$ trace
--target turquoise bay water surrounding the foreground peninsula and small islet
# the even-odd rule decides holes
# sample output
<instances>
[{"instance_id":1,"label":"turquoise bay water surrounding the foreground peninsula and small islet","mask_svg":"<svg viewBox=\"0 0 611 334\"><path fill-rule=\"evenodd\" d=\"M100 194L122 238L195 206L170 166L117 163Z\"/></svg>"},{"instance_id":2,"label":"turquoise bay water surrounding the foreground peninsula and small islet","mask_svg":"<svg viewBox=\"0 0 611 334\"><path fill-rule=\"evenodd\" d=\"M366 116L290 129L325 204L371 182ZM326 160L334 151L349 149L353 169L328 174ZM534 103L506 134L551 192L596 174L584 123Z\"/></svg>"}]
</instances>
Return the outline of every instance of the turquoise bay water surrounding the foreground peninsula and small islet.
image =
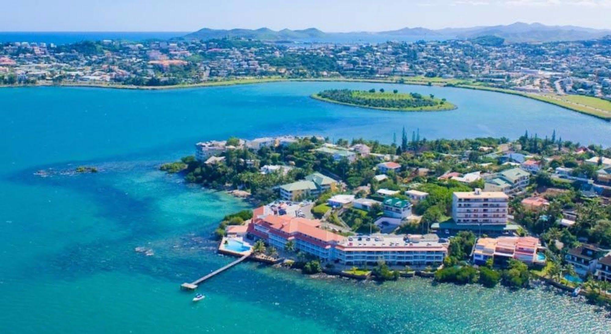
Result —
<instances>
[{"instance_id":1,"label":"turquoise bay water surrounding the foreground peninsula and small islet","mask_svg":"<svg viewBox=\"0 0 611 334\"><path fill-rule=\"evenodd\" d=\"M370 111L312 100L331 87L433 93L456 111ZM441 87L284 82L135 91L0 89L0 332L609 332L597 308L546 288L377 285L317 279L246 263L205 283L183 281L230 261L208 241L224 214L247 205L185 186L156 166L198 140L277 134L366 137L403 126L464 138L556 129L564 140L611 145L610 123L518 96ZM32 175L96 165L97 174ZM154 256L134 252L153 249Z\"/></svg>"}]
</instances>

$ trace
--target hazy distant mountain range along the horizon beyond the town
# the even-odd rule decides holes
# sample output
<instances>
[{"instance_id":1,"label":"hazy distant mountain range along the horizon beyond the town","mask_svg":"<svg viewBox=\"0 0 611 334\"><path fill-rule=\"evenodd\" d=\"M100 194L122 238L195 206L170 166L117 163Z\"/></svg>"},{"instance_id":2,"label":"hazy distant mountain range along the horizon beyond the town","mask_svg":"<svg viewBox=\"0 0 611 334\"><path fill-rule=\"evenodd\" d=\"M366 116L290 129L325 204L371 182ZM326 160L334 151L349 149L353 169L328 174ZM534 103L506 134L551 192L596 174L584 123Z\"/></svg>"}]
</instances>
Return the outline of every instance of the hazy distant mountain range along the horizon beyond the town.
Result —
<instances>
[{"instance_id":1,"label":"hazy distant mountain range along the horizon beyond the town","mask_svg":"<svg viewBox=\"0 0 611 334\"><path fill-rule=\"evenodd\" d=\"M185 35L186 39L211 39L223 37L252 38L271 42L386 42L388 40L450 40L481 36L496 36L507 43L554 42L588 40L611 35L611 29L593 29L577 26L546 26L541 23L516 22L507 26L477 26L467 28L426 29L423 27L380 32L323 32L316 28L303 30L282 29L209 29Z\"/></svg>"}]
</instances>

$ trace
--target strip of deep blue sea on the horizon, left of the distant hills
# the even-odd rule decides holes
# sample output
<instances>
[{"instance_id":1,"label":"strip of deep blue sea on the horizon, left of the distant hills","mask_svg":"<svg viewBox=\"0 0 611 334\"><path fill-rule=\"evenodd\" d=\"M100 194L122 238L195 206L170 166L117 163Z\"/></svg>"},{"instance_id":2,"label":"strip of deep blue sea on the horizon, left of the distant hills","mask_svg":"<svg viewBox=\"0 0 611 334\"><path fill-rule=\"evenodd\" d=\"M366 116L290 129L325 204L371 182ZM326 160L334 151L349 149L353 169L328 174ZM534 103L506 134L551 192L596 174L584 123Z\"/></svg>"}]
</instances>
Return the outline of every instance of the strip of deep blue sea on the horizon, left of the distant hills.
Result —
<instances>
[{"instance_id":1,"label":"strip of deep blue sea on the horizon, left of the distant hills","mask_svg":"<svg viewBox=\"0 0 611 334\"><path fill-rule=\"evenodd\" d=\"M56 45L81 42L84 40L130 40L139 42L143 40L167 40L181 37L188 32L172 31L0 31L0 43L4 42L45 42Z\"/></svg>"}]
</instances>

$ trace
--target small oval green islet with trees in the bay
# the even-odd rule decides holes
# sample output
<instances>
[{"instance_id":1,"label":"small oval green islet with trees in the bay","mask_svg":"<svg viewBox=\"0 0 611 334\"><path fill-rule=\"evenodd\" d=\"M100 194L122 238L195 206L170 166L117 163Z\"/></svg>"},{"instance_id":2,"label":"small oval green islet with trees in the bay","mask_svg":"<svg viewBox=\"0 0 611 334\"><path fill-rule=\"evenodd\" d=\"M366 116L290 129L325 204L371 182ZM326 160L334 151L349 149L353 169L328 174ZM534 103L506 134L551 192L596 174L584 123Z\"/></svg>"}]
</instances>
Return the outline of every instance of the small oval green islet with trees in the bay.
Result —
<instances>
[{"instance_id":1,"label":"small oval green islet with trees in the bay","mask_svg":"<svg viewBox=\"0 0 611 334\"><path fill-rule=\"evenodd\" d=\"M436 98L433 94L425 96L420 93L399 93L397 89L385 92L384 89L351 90L329 89L312 95L312 98L348 106L365 107L389 111L447 111L456 109L445 98Z\"/></svg>"}]
</instances>

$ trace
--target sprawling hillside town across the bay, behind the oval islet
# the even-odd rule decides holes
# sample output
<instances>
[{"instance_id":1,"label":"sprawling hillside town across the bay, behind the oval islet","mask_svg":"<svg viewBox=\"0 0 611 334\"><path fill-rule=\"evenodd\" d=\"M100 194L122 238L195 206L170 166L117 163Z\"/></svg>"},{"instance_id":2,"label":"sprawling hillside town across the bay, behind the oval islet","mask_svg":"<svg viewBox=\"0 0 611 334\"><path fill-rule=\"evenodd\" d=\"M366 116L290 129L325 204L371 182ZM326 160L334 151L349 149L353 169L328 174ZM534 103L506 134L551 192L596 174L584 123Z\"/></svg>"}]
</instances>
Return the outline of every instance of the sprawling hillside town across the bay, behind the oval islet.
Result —
<instances>
[{"instance_id":1,"label":"sprawling hillside town across the bay, behind the oval islet","mask_svg":"<svg viewBox=\"0 0 611 334\"><path fill-rule=\"evenodd\" d=\"M611 37L503 43L494 36L379 44L246 39L0 44L0 84L200 84L236 78L426 78L611 98Z\"/></svg>"}]
</instances>

